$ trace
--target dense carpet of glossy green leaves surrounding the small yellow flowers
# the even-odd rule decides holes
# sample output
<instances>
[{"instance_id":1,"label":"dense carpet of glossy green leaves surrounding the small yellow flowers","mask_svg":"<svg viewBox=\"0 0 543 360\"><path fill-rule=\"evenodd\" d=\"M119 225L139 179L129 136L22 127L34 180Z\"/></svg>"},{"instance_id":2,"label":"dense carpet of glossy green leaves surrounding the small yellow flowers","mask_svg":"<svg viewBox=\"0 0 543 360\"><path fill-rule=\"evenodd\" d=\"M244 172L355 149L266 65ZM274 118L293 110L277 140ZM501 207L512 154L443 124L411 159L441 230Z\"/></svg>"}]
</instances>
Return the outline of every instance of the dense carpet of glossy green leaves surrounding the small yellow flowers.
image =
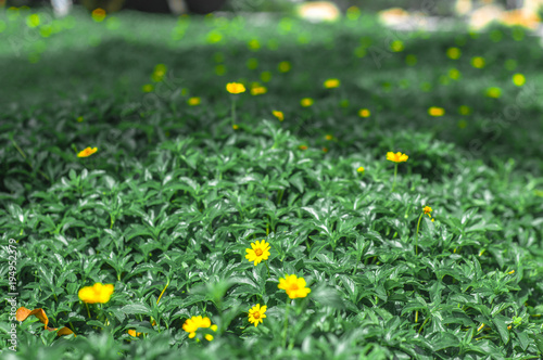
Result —
<instances>
[{"instance_id":1,"label":"dense carpet of glossy green leaves surrounding the small yellow flowers","mask_svg":"<svg viewBox=\"0 0 543 360\"><path fill-rule=\"evenodd\" d=\"M159 29L172 25L138 21ZM181 94L182 85L156 92L157 102L150 104L148 98L134 103L134 94L112 93L108 99L99 89L84 88L89 91L86 97L66 94L65 101L45 104L45 99L54 97L41 94L40 106L2 108L0 231L5 243L17 241L17 301L28 309L43 309L52 326L68 326L77 335L59 338L54 332L43 332L37 319L28 319L17 324L20 357L540 358L543 178L541 158L534 154L541 149L519 150L507 162L473 158L472 152L443 141L450 119L429 125L426 114L427 106L447 97L450 108L467 104L481 115L512 104L510 100L478 101L460 86L439 87L438 67L428 76L441 92L409 94L392 86L400 83L394 76L403 68L403 56L392 53L380 72L349 82L352 50L359 46L359 35L353 34L364 26L348 23L325 27L328 33L316 30L316 40L307 46L288 42L289 35L282 34L286 44L279 51L262 50L263 69L285 60L293 68L274 75L268 94L240 95L240 128L233 130L226 81L210 74L210 64L202 59L222 52L227 54L229 76L248 81L258 76L243 65L245 56L256 53L247 54L240 46L228 50L220 42L206 43L207 33L217 29L245 41L250 31L240 31L236 24L190 20L187 43L181 46L195 49L193 57L182 60L193 66L182 73L188 94ZM286 28L285 21L280 24ZM290 24L307 33L314 26ZM59 34L48 41L61 43L88 28L111 36L97 26L83 22L75 34ZM258 31L262 39L279 37L275 29ZM330 35L341 40L338 57L315 55L315 48L330 43ZM458 38L438 34L431 49L444 57L454 41L470 39ZM377 31L364 39L364 43L382 42ZM519 52L532 43L504 42ZM413 38L407 46L421 66L438 63L440 55L424 43ZM470 39L464 54L480 52L482 43ZM5 47L0 49L5 52ZM85 64L102 79L124 67L115 54L126 52L121 59L127 59L147 48L138 49L113 41L97 49L105 59L103 67L93 67L94 55ZM501 61L501 49L489 48L494 52L489 57ZM148 57L134 67L135 81L148 81L152 69L148 65L172 55L163 48L157 53L146 51ZM3 70L8 61L0 61ZM42 60L46 68L52 66L50 61ZM374 59L368 54L363 61L372 64ZM70 56L61 64L66 62L74 66ZM168 66L179 64L181 60ZM469 74L467 66L460 70ZM415 78L428 70L420 68L413 81L420 81ZM341 78L339 89L324 90L323 79L308 80L312 69L324 72L323 79L345 76L345 80ZM36 79L48 81L48 75ZM85 76L77 80L85 82ZM59 79L54 86L66 83ZM469 91L480 90L480 83L470 83ZM127 83L117 86L130 92ZM513 86L508 91L513 93ZM301 92L313 97L315 105L301 110ZM361 93L367 94L364 104ZM210 106L182 107L189 94L205 97L204 105ZM535 101L528 111L540 105ZM363 106L374 106L375 116L361 120L356 110ZM273 118L272 110L285 112L282 124ZM399 116L415 119L397 124ZM299 118L302 123L296 123ZM416 124L428 130L412 129ZM451 132L459 140L469 138L459 130ZM333 137L325 138L329 133ZM512 133L505 149L534 144L523 129ZM501 149L495 141L488 143L490 154ZM99 151L77 158L76 151L88 145ZM300 145L308 147L303 151ZM409 155L400 165L395 191L388 151ZM522 156L535 164L533 171L513 159ZM357 172L361 166L364 172ZM417 235L425 205L434 209L435 221L424 217ZM263 239L272 245L266 260L269 274L264 263L254 267L244 258L249 244ZM9 248L2 246L0 252L8 259ZM2 287L8 285L8 272L2 261ZM277 283L291 273L303 275L312 292L289 314L283 347L286 295L277 291ZM108 304L87 310L77 292L94 282L114 284L115 293ZM257 327L247 319L254 304L268 307ZM182 331L186 319L200 314L218 325L211 343L197 344ZM2 348L10 346L4 338L11 326L8 319L9 313L0 314ZM128 330L143 335L136 338Z\"/></svg>"}]
</instances>

